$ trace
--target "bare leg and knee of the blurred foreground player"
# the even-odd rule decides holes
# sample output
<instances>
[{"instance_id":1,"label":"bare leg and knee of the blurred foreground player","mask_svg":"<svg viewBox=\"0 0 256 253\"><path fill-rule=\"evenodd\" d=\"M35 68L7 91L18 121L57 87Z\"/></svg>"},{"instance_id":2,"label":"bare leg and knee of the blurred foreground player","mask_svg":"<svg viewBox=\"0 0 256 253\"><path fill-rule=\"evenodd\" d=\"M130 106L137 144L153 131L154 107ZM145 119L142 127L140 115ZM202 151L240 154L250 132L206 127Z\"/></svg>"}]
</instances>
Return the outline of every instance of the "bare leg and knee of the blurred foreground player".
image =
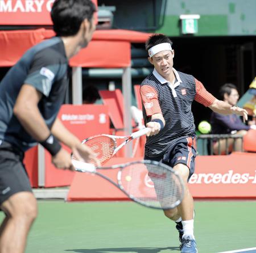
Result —
<instances>
[{"instance_id":1,"label":"bare leg and knee of the blurred foreground player","mask_svg":"<svg viewBox=\"0 0 256 253\"><path fill-rule=\"evenodd\" d=\"M36 199L31 192L15 193L2 203L6 218L1 226L0 252L23 253L27 234L36 218Z\"/></svg>"}]
</instances>

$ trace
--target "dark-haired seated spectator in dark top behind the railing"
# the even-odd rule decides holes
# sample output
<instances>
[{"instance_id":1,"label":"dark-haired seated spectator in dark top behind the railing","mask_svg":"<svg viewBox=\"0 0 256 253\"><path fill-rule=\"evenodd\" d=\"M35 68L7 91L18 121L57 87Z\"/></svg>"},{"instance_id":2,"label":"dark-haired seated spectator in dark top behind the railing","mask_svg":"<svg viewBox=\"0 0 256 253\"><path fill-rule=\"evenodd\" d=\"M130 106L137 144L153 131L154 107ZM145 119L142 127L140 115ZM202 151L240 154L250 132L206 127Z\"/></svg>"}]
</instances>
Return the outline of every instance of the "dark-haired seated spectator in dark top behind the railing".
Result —
<instances>
[{"instance_id":1,"label":"dark-haired seated spectator in dark top behind the railing","mask_svg":"<svg viewBox=\"0 0 256 253\"><path fill-rule=\"evenodd\" d=\"M220 88L221 99L229 103L230 106L237 104L239 94L237 87L232 83L226 83ZM220 113L213 112L210 118L210 124L212 125L212 134L239 134L244 136L249 129L255 129L255 125L246 125L242 122L240 117L235 114L222 115ZM226 151L226 140L220 140L220 142L214 142L213 153L224 154ZM228 151L242 151L242 140L241 139L228 139Z\"/></svg>"}]
</instances>

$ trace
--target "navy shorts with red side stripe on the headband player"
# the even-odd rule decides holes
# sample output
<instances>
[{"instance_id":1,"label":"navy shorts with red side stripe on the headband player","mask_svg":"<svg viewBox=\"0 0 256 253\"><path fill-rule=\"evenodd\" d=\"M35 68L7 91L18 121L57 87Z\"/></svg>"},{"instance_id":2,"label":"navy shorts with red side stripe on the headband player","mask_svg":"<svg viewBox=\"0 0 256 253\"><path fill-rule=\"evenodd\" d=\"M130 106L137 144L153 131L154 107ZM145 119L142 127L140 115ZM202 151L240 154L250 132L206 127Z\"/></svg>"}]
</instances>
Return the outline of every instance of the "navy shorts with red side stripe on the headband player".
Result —
<instances>
[{"instance_id":1,"label":"navy shorts with red side stripe on the headband player","mask_svg":"<svg viewBox=\"0 0 256 253\"><path fill-rule=\"evenodd\" d=\"M189 180L195 172L196 149L193 146L194 139L194 137L184 137L174 140L163 155L159 157L148 157L145 155L144 159L162 162L172 168L178 163L183 163L189 168Z\"/></svg>"}]
</instances>

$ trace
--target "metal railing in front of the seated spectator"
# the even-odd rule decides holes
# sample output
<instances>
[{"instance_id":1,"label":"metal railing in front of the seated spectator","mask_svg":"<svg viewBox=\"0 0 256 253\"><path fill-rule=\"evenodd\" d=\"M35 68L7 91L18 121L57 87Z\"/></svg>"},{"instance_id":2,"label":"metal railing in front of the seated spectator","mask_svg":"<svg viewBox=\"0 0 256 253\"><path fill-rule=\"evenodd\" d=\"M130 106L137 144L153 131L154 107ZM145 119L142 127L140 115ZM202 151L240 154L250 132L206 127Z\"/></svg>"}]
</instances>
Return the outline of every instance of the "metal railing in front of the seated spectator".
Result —
<instances>
[{"instance_id":1,"label":"metal railing in front of the seated spectator","mask_svg":"<svg viewBox=\"0 0 256 253\"><path fill-rule=\"evenodd\" d=\"M228 140L229 138L234 139L233 142L233 150L234 145L236 144L236 141L238 139L241 141L241 150L243 151L243 136L240 134L200 134L197 136L197 147L199 147L200 140L202 140L203 145L201 145L202 152L199 152L199 155L213 155L213 143L218 142L218 154L221 154L221 145L220 141L225 140L226 141L226 148L225 148L225 154L229 154L229 145ZM205 152L206 151L206 152Z\"/></svg>"}]
</instances>

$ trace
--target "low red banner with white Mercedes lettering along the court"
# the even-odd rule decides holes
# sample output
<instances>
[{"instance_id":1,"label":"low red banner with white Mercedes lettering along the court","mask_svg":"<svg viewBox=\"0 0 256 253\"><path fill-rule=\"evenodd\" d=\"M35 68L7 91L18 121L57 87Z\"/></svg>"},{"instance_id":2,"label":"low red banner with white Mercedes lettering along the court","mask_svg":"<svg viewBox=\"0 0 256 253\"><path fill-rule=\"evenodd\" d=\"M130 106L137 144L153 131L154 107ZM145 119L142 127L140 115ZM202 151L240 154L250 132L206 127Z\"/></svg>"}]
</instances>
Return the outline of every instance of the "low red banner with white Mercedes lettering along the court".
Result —
<instances>
[{"instance_id":1,"label":"low red banner with white Mercedes lettering along the court","mask_svg":"<svg viewBox=\"0 0 256 253\"><path fill-rule=\"evenodd\" d=\"M139 158L112 158L106 165L135 161ZM199 156L196 172L189 180L189 189L195 198L256 199L256 154L233 153L231 155ZM117 170L103 172L114 182ZM152 182L147 173L137 180L136 191L152 194ZM128 200L117 187L100 176L79 173L71 184L69 201L76 200Z\"/></svg>"}]
</instances>

